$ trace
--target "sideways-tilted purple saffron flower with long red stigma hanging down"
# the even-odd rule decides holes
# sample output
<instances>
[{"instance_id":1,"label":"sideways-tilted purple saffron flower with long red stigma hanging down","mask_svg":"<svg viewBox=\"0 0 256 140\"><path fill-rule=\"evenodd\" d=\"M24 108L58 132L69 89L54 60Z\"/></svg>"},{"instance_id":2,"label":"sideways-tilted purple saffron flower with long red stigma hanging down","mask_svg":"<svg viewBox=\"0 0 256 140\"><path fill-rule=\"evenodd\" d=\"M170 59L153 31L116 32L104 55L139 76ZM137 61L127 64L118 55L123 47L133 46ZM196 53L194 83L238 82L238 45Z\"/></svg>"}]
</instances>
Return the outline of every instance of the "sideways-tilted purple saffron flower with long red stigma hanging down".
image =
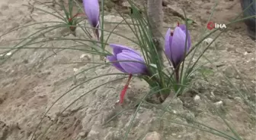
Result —
<instances>
[{"instance_id":1,"label":"sideways-tilted purple saffron flower with long red stigma hanging down","mask_svg":"<svg viewBox=\"0 0 256 140\"><path fill-rule=\"evenodd\" d=\"M130 79L132 78L133 74L146 74L147 68L143 58L132 48L116 44L110 44L110 47L113 48L114 54L107 56L107 59L113 64L114 67L117 68L117 70L130 74L126 85L120 93L120 104L123 104L123 98L126 94L126 90L130 84Z\"/></svg>"}]
</instances>

